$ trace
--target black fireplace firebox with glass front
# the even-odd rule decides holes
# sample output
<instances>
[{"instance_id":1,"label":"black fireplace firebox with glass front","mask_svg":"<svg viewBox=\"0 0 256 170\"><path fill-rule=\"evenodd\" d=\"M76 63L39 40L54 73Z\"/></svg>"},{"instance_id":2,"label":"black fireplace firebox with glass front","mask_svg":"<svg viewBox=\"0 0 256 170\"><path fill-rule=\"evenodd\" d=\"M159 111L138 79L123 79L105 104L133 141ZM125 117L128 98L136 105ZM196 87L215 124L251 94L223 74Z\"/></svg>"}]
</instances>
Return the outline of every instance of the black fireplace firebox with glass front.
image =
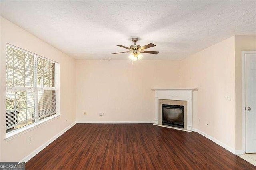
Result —
<instances>
[{"instance_id":1,"label":"black fireplace firebox with glass front","mask_svg":"<svg viewBox=\"0 0 256 170\"><path fill-rule=\"evenodd\" d=\"M162 104L162 125L184 128L184 106Z\"/></svg>"}]
</instances>

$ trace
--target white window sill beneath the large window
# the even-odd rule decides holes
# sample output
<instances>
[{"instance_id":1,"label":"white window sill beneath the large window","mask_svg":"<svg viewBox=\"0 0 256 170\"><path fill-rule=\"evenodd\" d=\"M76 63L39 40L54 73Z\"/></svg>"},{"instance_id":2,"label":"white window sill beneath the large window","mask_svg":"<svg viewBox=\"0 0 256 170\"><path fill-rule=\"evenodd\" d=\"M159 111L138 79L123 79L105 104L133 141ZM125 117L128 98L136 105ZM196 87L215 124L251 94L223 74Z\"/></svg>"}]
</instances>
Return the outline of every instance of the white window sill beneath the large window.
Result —
<instances>
[{"instance_id":1,"label":"white window sill beneath the large window","mask_svg":"<svg viewBox=\"0 0 256 170\"><path fill-rule=\"evenodd\" d=\"M49 123L50 121L58 119L59 117L60 117L60 114L58 114L58 115L56 114L56 115L48 117L48 118L46 118L46 119L44 119L44 120L42 120L40 122L33 123L32 125L28 125L26 127L22 127L22 128L20 128L18 130L15 130L14 132L9 132L8 134L6 134L6 138L4 138L4 140L6 142L8 142L8 141L10 141L10 140L12 140L12 139L22 135L22 134L25 134L25 133L27 133L27 132L29 132L31 130L34 130L35 128L38 128L38 127L40 127L40 126L42 126L42 125L44 125L46 123Z\"/></svg>"}]
</instances>

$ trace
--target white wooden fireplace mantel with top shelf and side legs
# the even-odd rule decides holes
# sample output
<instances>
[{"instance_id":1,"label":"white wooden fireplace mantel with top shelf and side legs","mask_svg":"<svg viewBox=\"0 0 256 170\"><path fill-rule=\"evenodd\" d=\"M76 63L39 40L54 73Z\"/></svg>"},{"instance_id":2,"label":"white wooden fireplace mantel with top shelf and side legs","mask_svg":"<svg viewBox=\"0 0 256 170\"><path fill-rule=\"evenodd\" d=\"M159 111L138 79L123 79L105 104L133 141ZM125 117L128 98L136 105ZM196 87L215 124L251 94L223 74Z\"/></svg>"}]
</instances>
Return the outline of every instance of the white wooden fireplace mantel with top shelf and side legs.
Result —
<instances>
[{"instance_id":1,"label":"white wooden fireplace mantel with top shelf and side legs","mask_svg":"<svg viewBox=\"0 0 256 170\"><path fill-rule=\"evenodd\" d=\"M159 99L187 101L187 130L192 131L192 91L196 88L152 88L155 91L155 124L159 125Z\"/></svg>"}]
</instances>

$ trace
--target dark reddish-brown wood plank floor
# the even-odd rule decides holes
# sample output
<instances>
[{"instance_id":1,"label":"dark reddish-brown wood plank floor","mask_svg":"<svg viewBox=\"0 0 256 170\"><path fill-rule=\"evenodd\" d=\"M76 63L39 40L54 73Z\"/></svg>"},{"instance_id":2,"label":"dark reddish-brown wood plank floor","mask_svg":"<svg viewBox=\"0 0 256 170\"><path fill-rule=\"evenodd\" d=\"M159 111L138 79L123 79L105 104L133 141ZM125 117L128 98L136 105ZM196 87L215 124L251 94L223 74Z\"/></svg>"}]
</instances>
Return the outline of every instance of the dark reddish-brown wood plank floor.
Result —
<instances>
[{"instance_id":1,"label":"dark reddish-brown wood plank floor","mask_svg":"<svg viewBox=\"0 0 256 170\"><path fill-rule=\"evenodd\" d=\"M152 124L76 124L26 169L256 169L196 132Z\"/></svg>"}]
</instances>

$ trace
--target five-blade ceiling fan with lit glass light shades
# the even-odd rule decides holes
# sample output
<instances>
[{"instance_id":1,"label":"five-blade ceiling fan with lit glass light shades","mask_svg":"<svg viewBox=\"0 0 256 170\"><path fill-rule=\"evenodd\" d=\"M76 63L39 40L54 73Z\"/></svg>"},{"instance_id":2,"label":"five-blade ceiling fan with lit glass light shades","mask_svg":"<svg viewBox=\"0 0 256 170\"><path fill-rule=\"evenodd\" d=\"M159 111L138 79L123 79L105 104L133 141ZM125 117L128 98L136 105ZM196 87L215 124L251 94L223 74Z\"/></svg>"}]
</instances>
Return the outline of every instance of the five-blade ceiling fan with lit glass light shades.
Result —
<instances>
[{"instance_id":1,"label":"five-blade ceiling fan with lit glass light shades","mask_svg":"<svg viewBox=\"0 0 256 170\"><path fill-rule=\"evenodd\" d=\"M125 47L124 45L117 45L118 47L123 47L126 49L129 49L130 51L120 52L120 53L130 53L132 51L132 54L129 55L129 59L132 61L140 60L142 59L143 55L141 53L149 53L149 54L158 54L158 51L145 51L144 49L154 47L156 45L150 43L148 45L144 45L140 47L140 45L136 45L136 42L138 41L138 38L132 38L132 41L134 42L134 45L131 45L129 48ZM119 54L119 53L112 53L112 54Z\"/></svg>"}]
</instances>

